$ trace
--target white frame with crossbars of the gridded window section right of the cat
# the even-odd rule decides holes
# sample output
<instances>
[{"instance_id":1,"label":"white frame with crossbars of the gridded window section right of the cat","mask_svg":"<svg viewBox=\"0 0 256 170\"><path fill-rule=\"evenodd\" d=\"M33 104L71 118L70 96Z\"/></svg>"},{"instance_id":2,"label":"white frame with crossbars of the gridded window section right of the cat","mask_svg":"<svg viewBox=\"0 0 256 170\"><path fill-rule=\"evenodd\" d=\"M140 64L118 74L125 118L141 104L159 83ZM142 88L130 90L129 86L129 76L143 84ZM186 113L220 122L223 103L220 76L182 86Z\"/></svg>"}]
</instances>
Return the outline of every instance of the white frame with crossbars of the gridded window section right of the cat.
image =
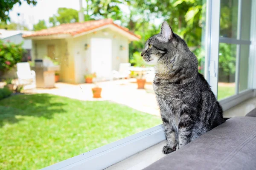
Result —
<instances>
[{"instance_id":1,"label":"white frame with crossbars of the gridded window section right of the cat","mask_svg":"<svg viewBox=\"0 0 256 170\"><path fill-rule=\"evenodd\" d=\"M220 37L220 11L221 11L221 0L210 0L212 3L208 8L210 13L210 20L208 23L208 29L209 29L209 35L208 40L209 44L209 51L207 58L209 60L209 69L206 73L207 81L209 82L209 85L211 86L211 89L215 96L217 97L218 94L218 53L219 53L219 43L228 43L228 44L236 44L237 45L237 51L236 51L236 94L233 96L229 96L227 98L221 99L219 102L223 108L224 111L232 108L233 106L243 102L246 99L249 99L254 96L253 89L256 88L255 85L253 85L254 82L251 82L254 77L256 77L256 67L254 67L253 63L256 63L255 59L255 29L256 29L256 21L255 21L255 15L256 12L253 10L253 8L256 6L256 0L252 0L252 12L251 12L251 31L250 31L250 40L241 40L241 10L242 10L242 0L238 0L238 23L237 23L237 38L228 38L228 37ZM209 2L209 3L210 3ZM239 62L240 62L240 49L241 45L250 45L250 56L249 56L249 85L248 89L245 91L239 92ZM255 83L256 84L256 83Z\"/></svg>"}]
</instances>

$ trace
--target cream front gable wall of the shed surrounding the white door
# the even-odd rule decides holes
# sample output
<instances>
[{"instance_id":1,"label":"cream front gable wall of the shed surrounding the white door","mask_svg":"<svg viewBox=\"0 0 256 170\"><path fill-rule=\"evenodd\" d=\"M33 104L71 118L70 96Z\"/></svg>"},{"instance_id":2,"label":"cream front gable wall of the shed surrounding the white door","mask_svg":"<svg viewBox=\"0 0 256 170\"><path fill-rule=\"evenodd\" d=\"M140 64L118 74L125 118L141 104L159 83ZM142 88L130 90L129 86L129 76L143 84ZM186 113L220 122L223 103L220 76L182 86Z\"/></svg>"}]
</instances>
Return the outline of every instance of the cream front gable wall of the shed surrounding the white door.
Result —
<instances>
[{"instance_id":1,"label":"cream front gable wall of the shed surrounding the white door","mask_svg":"<svg viewBox=\"0 0 256 170\"><path fill-rule=\"evenodd\" d=\"M107 32L108 34L104 34ZM123 37L121 34L112 31L109 28L96 31L96 33L86 34L80 37L74 38L74 56L75 56L75 76L76 83L84 82L84 74L86 70L90 73L91 71L91 48L90 39L92 37L110 38L112 40L112 70L119 69L119 63L129 61L129 40ZM84 49L84 45L88 44L87 50ZM120 50L120 45L122 45L125 50ZM100 48L99 48L100 50Z\"/></svg>"}]
</instances>

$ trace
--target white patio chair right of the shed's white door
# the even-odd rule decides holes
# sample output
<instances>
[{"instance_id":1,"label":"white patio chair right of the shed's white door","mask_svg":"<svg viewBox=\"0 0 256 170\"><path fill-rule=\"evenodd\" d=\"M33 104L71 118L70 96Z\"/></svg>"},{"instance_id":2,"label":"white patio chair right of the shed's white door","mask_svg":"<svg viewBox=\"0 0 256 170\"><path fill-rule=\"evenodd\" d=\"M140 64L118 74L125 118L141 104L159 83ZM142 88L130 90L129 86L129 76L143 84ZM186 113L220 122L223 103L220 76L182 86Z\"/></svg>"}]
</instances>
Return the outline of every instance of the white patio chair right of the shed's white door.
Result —
<instances>
[{"instance_id":1,"label":"white patio chair right of the shed's white door","mask_svg":"<svg viewBox=\"0 0 256 170\"><path fill-rule=\"evenodd\" d=\"M119 71L112 71L112 77L111 79L123 79L128 78L131 74L131 71L129 71L129 68L131 67L131 63L120 63L119 65Z\"/></svg>"}]
</instances>

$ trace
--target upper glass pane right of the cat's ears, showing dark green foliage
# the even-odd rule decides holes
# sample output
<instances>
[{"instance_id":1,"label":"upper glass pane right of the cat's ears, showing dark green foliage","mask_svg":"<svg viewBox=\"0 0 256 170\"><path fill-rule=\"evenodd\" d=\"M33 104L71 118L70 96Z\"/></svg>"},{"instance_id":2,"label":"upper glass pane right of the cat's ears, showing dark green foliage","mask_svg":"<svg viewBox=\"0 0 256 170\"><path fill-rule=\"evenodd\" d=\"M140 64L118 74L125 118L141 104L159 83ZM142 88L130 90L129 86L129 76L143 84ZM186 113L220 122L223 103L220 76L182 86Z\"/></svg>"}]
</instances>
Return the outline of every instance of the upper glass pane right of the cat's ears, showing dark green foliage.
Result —
<instances>
[{"instance_id":1,"label":"upper glass pane right of the cat's ears, showing dark green foliage","mask_svg":"<svg viewBox=\"0 0 256 170\"><path fill-rule=\"evenodd\" d=\"M221 0L220 36L237 38L238 0Z\"/></svg>"}]
</instances>

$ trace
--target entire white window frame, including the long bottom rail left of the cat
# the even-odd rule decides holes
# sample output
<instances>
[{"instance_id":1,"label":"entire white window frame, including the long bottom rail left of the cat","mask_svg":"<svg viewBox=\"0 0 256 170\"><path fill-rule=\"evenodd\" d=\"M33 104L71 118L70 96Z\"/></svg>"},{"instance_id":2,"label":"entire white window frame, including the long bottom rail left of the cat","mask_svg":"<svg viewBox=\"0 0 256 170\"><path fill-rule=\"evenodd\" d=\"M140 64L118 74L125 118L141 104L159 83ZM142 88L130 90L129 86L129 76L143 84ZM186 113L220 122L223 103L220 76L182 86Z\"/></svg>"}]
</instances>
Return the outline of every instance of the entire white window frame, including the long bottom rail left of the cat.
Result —
<instances>
[{"instance_id":1,"label":"entire white window frame, including the long bottom rail left of the cat","mask_svg":"<svg viewBox=\"0 0 256 170\"><path fill-rule=\"evenodd\" d=\"M241 3L241 0L239 0ZM207 22L206 22L206 58L205 77L211 85L212 91L217 96L218 92L218 49L219 42L247 44L244 40L230 38L219 38L221 0L207 0ZM252 0L252 9L256 9L256 0ZM241 11L240 11L241 12ZM241 20L241 18L240 18ZM250 88L237 95L230 96L220 101L224 111L234 105L256 96L256 11L252 10L251 34L250 34ZM254 77L254 79L252 79ZM250 79L250 78L249 78ZM152 127L140 133L128 136L119 141L82 153L73 158L58 162L42 170L102 170L129 156L147 149L165 140L162 125Z\"/></svg>"}]
</instances>

